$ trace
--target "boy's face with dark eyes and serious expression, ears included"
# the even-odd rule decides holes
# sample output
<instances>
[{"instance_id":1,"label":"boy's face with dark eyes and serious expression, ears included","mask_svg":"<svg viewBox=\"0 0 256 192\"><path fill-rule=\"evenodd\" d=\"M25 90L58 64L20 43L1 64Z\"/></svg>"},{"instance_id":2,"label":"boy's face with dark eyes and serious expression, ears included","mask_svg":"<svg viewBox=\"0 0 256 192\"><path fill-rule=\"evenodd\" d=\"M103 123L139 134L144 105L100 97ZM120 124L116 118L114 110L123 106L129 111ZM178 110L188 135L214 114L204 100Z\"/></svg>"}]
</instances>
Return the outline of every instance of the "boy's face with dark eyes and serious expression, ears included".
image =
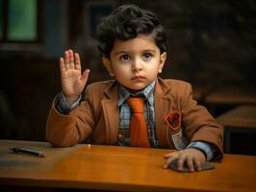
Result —
<instances>
[{"instance_id":1,"label":"boy's face with dark eyes and serious expression, ears included","mask_svg":"<svg viewBox=\"0 0 256 192\"><path fill-rule=\"evenodd\" d=\"M151 84L162 72L166 53L152 36L140 35L129 40L116 39L110 60L103 58L111 76L131 91L139 91Z\"/></svg>"}]
</instances>

